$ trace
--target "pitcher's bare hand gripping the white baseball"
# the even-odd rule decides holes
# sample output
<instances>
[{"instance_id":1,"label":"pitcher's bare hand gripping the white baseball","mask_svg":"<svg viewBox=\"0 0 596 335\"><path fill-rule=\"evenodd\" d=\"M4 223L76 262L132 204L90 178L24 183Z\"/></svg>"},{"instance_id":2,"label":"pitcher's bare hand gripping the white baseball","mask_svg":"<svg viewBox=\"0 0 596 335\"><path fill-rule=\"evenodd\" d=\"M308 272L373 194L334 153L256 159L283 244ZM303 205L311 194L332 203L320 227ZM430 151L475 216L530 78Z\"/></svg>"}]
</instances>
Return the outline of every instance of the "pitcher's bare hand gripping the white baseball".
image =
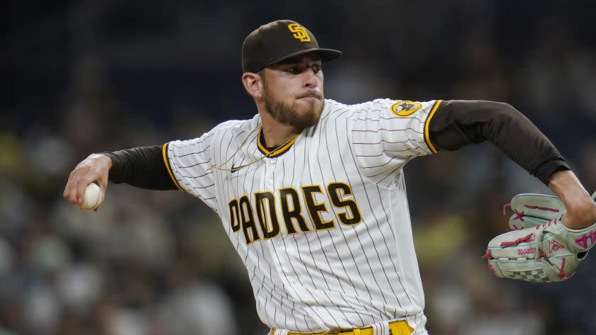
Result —
<instances>
[{"instance_id":1,"label":"pitcher's bare hand gripping the white baseball","mask_svg":"<svg viewBox=\"0 0 596 335\"><path fill-rule=\"evenodd\" d=\"M68 181L64 189L64 198L72 205L81 207L84 200L85 188L90 183L96 182L101 188L101 201L95 212L99 210L101 204L104 203L106 196L106 188L108 187L108 173L111 168L112 161L110 157L104 154L90 154L89 157L81 161L74 170L70 172Z\"/></svg>"}]
</instances>

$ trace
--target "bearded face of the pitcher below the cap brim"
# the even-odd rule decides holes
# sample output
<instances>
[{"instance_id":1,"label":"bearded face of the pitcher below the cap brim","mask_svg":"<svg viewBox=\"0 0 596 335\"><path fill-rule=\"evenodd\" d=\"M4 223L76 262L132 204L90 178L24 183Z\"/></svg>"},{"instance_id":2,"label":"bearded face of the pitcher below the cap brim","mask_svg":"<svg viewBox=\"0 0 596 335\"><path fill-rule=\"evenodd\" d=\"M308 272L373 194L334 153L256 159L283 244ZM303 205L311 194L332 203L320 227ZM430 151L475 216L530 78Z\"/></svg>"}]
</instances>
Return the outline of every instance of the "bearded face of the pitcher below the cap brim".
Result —
<instances>
[{"instance_id":1,"label":"bearded face of the pitcher below the cap brim","mask_svg":"<svg viewBox=\"0 0 596 335\"><path fill-rule=\"evenodd\" d=\"M319 57L295 57L270 65L261 74L265 107L274 120L299 130L319 122L324 105Z\"/></svg>"}]
</instances>

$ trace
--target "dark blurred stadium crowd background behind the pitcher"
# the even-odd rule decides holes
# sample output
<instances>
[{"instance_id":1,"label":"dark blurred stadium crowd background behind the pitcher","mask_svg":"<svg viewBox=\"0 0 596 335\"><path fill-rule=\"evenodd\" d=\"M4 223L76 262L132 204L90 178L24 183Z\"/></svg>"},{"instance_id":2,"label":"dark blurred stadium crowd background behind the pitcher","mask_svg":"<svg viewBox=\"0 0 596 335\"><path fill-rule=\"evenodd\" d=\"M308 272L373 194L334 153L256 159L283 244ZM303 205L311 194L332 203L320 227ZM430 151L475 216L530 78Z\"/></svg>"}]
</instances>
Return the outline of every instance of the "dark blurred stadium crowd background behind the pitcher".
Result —
<instances>
[{"instance_id":1,"label":"dark blurred stadium crowd background behind the pitcher","mask_svg":"<svg viewBox=\"0 0 596 335\"><path fill-rule=\"evenodd\" d=\"M219 335L267 329L243 266L200 200L109 186L72 208L92 152L197 137L250 118L241 42L292 18L344 56L346 103L506 101L596 189L594 1L7 1L0 12L0 334ZM497 280L480 260L512 195L549 193L490 144L405 168L428 328L596 334L596 257L568 283Z\"/></svg>"}]
</instances>

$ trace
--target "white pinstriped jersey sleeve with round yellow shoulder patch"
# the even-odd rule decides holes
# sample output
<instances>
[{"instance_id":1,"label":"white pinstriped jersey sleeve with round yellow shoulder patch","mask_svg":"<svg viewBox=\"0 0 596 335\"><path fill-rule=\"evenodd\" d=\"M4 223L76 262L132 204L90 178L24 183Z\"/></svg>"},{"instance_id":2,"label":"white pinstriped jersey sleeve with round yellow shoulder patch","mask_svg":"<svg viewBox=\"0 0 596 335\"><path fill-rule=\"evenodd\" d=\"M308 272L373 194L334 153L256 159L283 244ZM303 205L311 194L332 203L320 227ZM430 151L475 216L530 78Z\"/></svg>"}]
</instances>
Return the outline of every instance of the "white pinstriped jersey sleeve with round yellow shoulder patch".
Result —
<instances>
[{"instance_id":1,"label":"white pinstriped jersey sleeve with round yellow shoulder patch","mask_svg":"<svg viewBox=\"0 0 596 335\"><path fill-rule=\"evenodd\" d=\"M391 188L408 161L436 152L429 121L440 104L377 99L358 105L351 116L351 145L363 174Z\"/></svg>"}]
</instances>

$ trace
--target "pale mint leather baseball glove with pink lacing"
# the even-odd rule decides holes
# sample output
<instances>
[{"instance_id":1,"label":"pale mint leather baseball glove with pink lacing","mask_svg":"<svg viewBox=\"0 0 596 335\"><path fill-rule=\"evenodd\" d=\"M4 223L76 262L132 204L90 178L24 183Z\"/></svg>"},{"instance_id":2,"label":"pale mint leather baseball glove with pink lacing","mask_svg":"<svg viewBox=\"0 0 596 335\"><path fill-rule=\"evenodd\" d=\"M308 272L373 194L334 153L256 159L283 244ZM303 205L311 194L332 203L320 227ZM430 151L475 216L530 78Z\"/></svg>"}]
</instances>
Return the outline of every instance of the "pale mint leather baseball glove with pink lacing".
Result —
<instances>
[{"instance_id":1,"label":"pale mint leather baseball glove with pink lacing","mask_svg":"<svg viewBox=\"0 0 596 335\"><path fill-rule=\"evenodd\" d=\"M596 222L585 229L563 225L565 206L556 196L519 194L507 208L514 212L509 219L514 231L492 239L482 256L494 276L536 283L568 280L596 242Z\"/></svg>"}]
</instances>

